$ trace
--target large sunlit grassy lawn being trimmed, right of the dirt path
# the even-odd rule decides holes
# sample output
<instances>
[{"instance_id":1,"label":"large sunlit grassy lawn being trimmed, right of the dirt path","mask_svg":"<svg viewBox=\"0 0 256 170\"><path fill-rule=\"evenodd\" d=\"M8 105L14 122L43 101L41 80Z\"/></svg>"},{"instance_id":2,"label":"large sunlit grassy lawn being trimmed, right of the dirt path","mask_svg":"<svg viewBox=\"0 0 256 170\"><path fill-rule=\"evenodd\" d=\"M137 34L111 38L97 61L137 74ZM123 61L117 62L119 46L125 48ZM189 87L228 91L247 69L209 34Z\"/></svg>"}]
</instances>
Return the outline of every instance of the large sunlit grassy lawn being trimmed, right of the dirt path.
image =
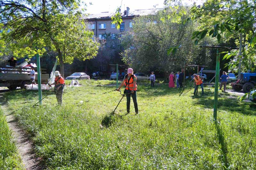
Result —
<instances>
[{"instance_id":1,"label":"large sunlit grassy lawn being trimmed, right of the dirt path","mask_svg":"<svg viewBox=\"0 0 256 170\"><path fill-rule=\"evenodd\" d=\"M139 114L131 101L126 115L124 97L112 115L122 97L108 85L115 81L79 82L82 87L65 89L62 107L49 91L40 107L32 107L36 91L5 94L49 169L256 169L256 108L250 103L220 92L214 124L213 88L193 97L193 90L180 96L168 85L138 84Z\"/></svg>"}]
</instances>

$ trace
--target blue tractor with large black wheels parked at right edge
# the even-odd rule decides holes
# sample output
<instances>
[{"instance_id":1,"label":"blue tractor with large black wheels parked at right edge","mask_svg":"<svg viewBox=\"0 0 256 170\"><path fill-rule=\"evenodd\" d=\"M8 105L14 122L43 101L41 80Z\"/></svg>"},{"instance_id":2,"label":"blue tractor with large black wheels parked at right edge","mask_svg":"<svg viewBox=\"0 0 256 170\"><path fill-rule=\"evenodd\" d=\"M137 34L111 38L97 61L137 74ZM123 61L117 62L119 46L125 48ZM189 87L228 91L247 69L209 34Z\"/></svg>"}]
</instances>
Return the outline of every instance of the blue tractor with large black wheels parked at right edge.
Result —
<instances>
[{"instance_id":1,"label":"blue tractor with large black wheels parked at right edge","mask_svg":"<svg viewBox=\"0 0 256 170\"><path fill-rule=\"evenodd\" d=\"M241 73L240 79L231 83L231 86L237 91L243 89L244 93L250 92L256 86L256 73Z\"/></svg>"}]
</instances>

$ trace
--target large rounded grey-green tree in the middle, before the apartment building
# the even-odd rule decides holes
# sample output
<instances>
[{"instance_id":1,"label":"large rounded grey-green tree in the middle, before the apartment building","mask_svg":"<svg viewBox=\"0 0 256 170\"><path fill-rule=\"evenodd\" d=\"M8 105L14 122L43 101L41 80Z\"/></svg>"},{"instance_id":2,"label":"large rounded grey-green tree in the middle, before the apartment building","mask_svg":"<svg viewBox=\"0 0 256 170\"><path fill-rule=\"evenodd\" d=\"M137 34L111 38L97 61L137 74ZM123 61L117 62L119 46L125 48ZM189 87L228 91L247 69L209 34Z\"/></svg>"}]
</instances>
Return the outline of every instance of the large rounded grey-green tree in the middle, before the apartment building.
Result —
<instances>
[{"instance_id":1,"label":"large rounded grey-green tree in the middle, before the apartment building","mask_svg":"<svg viewBox=\"0 0 256 170\"><path fill-rule=\"evenodd\" d=\"M138 71L159 70L178 71L184 67L184 61L207 63L208 57L202 58L202 49L191 41L191 34L196 24L184 22L188 17L188 8L184 6L170 7L159 11L156 15L140 16L133 20L133 30L122 37L124 46L123 60ZM178 17L169 17L173 14ZM205 39L203 44L209 43ZM171 47L177 47L176 48ZM168 50L169 49L169 50ZM176 52L173 53L176 49ZM167 53L167 50L169 51ZM203 55L205 55L204 53Z\"/></svg>"}]
</instances>

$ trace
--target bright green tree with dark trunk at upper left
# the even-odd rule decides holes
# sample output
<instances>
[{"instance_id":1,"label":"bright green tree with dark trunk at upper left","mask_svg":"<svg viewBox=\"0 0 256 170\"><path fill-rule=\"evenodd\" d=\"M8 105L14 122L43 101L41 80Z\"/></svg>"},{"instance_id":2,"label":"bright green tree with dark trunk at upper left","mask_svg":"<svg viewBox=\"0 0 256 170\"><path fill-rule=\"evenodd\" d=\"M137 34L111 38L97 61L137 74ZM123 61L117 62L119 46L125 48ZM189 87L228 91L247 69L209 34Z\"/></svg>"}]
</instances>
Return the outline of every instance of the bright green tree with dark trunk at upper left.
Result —
<instances>
[{"instance_id":1,"label":"bright green tree with dark trunk at upper left","mask_svg":"<svg viewBox=\"0 0 256 170\"><path fill-rule=\"evenodd\" d=\"M79 0L1 0L1 38L5 48L12 49L16 55L24 48L28 54L43 54L44 47L49 46L58 53L62 75L64 63L71 63L74 58L95 57L98 43L79 20L79 3Z\"/></svg>"}]
</instances>

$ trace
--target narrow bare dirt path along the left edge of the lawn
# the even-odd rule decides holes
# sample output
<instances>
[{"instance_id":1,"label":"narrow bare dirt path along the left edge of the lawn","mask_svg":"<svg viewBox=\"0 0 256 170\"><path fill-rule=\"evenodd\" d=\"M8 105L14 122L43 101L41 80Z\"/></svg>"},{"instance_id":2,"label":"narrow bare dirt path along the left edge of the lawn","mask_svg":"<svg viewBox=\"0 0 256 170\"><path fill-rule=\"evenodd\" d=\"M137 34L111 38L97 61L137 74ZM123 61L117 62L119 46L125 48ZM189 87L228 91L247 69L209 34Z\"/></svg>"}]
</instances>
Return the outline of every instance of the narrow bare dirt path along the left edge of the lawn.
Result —
<instances>
[{"instance_id":1,"label":"narrow bare dirt path along the left edge of the lawn","mask_svg":"<svg viewBox=\"0 0 256 170\"><path fill-rule=\"evenodd\" d=\"M0 89L0 105L6 116L9 128L12 131L14 140L16 141L16 146L24 167L26 170L41 170L43 167L40 165L40 159L36 158L35 152L33 151L33 142L28 138L29 135L19 126L18 121L13 116L13 113L11 113L7 108L7 103L3 97L3 94L6 91L8 91L8 89Z\"/></svg>"}]
</instances>

